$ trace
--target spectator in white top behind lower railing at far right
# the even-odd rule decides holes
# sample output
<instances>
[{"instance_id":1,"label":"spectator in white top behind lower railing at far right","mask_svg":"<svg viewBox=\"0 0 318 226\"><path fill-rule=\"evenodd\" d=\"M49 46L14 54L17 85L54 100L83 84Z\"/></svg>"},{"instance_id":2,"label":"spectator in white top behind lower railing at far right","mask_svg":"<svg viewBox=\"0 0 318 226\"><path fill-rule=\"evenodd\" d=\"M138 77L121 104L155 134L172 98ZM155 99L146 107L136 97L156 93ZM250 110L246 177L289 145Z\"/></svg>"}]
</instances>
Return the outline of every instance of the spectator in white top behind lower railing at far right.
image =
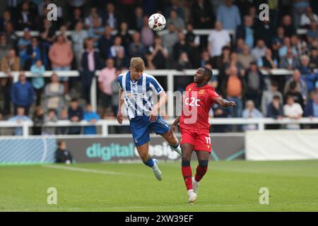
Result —
<instances>
[{"instance_id":1,"label":"spectator in white top behind lower railing at far right","mask_svg":"<svg viewBox=\"0 0 318 226\"><path fill-rule=\"evenodd\" d=\"M302 117L302 107L300 104L295 103L294 97L288 95L286 97L286 104L284 105L284 115L290 119L300 119ZM288 124L286 129L300 129L299 124Z\"/></svg>"}]
</instances>

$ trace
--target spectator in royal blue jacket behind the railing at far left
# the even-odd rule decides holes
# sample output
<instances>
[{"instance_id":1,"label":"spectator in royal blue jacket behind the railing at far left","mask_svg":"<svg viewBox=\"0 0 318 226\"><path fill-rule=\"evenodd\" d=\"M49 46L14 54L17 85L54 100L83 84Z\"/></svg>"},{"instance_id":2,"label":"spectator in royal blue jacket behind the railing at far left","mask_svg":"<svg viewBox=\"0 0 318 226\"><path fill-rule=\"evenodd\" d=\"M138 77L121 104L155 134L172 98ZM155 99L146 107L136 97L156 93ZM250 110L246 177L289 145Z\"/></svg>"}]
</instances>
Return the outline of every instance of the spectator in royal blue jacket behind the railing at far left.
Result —
<instances>
[{"instance_id":1,"label":"spectator in royal blue jacket behind the railing at far left","mask_svg":"<svg viewBox=\"0 0 318 226\"><path fill-rule=\"evenodd\" d=\"M25 78L25 73L20 71L19 81L13 83L11 98L14 105L14 114L18 107L23 107L25 115L29 114L30 105L34 102L34 89L30 82Z\"/></svg>"}]
</instances>

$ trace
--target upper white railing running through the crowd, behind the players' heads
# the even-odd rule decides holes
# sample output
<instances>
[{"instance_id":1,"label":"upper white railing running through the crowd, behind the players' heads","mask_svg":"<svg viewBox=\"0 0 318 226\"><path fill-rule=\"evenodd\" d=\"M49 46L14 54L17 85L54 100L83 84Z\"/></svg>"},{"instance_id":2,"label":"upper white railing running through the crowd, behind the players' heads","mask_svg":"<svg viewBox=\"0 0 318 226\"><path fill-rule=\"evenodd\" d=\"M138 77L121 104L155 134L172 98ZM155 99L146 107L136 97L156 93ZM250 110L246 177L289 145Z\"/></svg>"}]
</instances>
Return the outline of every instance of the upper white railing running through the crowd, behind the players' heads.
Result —
<instances>
[{"instance_id":1,"label":"upper white railing running through the crowd, behind the players' heads","mask_svg":"<svg viewBox=\"0 0 318 226\"><path fill-rule=\"evenodd\" d=\"M49 77L52 75L54 71L46 71L44 76ZM149 73L153 76L165 76L167 77L167 92L173 93L174 92L174 77L175 76L194 76L194 73L196 72L196 69L189 69L184 71L177 71L177 70L146 70L145 73ZM265 70L261 70L264 75L268 75L269 72ZM55 71L57 73L57 76L61 77L78 77L79 72L78 71ZM96 71L96 76L98 76L100 71ZM213 76L218 76L218 69L213 69ZM13 82L18 81L18 71L12 71L11 75L13 76ZM271 75L273 76L286 76L293 74L293 71L287 70L287 69L272 69ZM25 76L27 77L35 77L30 71L25 71ZM0 78L8 77L8 75L4 72L0 72ZM168 98L171 98L168 101L168 109L173 109L173 96L168 96ZM96 78L93 78L93 83L90 88L90 103L93 107L93 110L96 111L97 109L97 85L96 85Z\"/></svg>"}]
</instances>

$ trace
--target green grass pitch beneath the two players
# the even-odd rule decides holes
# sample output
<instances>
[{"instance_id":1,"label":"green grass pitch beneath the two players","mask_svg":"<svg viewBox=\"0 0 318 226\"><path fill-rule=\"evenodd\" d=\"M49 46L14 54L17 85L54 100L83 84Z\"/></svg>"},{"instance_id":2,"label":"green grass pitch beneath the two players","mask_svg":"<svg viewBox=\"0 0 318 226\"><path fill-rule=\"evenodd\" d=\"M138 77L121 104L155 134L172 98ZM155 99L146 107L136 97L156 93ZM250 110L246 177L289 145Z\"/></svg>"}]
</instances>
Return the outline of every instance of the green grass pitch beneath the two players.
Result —
<instances>
[{"instance_id":1,"label":"green grass pitch beneath the two players","mask_svg":"<svg viewBox=\"0 0 318 226\"><path fill-rule=\"evenodd\" d=\"M192 162L192 169L197 163ZM210 162L196 203L187 203L181 163L2 165L0 211L318 211L318 160ZM47 189L57 189L57 205ZM269 205L259 189L269 189Z\"/></svg>"}]
</instances>

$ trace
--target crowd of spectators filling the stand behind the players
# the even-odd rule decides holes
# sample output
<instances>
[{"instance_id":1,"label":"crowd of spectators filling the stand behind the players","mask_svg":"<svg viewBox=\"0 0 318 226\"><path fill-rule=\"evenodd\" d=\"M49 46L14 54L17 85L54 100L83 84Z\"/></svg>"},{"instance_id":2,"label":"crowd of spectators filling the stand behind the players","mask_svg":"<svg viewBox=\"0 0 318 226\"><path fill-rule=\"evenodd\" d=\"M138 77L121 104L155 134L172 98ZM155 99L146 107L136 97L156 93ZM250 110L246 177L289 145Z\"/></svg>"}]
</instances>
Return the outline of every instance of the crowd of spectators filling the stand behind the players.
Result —
<instances>
[{"instance_id":1,"label":"crowd of spectators filling the stand behind the players","mask_svg":"<svg viewBox=\"0 0 318 226\"><path fill-rule=\"evenodd\" d=\"M146 69L218 69L211 85L220 95L237 102L237 107L213 106L211 117L318 117L317 1L6 3L0 17L0 66L8 78L0 78L0 118L33 120L35 135L96 133L95 126L42 129L44 122L115 119L119 93L116 78L129 68L131 57L143 58ZM50 3L58 6L57 21L47 20ZM269 5L269 20L259 19L261 3ZM148 28L148 16L156 12L167 20L163 35ZM298 34L299 28L306 32ZM195 35L194 29L211 31L208 36ZM23 35L18 36L16 31ZM31 31L39 35L32 36ZM271 69L289 69L293 74L271 76ZM55 73L69 70L78 70L81 76L69 79ZM90 87L98 70L100 108L93 112ZM20 71L18 82L13 83L11 71ZM35 77L27 79L24 71L31 71ZM45 71L54 73L47 79L43 77ZM268 71L269 76L261 71ZM191 79L177 80L176 89L184 90ZM78 90L78 95L73 95L72 89ZM216 131L227 129L216 126ZM15 129L16 135L21 133L22 129Z\"/></svg>"}]
</instances>

